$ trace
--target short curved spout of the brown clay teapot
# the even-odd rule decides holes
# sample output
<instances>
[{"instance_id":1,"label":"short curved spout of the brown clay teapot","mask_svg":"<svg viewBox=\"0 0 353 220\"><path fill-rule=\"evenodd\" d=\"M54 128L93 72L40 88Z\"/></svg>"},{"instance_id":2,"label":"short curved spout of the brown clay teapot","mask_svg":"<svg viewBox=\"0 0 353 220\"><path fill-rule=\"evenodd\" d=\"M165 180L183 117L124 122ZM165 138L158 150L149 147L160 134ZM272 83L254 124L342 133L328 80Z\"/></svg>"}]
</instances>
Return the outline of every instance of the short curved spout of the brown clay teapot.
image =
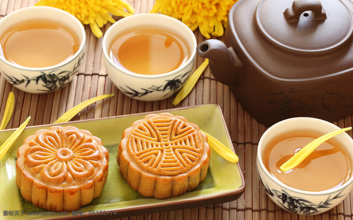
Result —
<instances>
[{"instance_id":1,"label":"short curved spout of the brown clay teapot","mask_svg":"<svg viewBox=\"0 0 353 220\"><path fill-rule=\"evenodd\" d=\"M220 40L209 39L197 45L196 52L209 59L211 73L219 82L239 86L242 65L233 48L227 48Z\"/></svg>"}]
</instances>

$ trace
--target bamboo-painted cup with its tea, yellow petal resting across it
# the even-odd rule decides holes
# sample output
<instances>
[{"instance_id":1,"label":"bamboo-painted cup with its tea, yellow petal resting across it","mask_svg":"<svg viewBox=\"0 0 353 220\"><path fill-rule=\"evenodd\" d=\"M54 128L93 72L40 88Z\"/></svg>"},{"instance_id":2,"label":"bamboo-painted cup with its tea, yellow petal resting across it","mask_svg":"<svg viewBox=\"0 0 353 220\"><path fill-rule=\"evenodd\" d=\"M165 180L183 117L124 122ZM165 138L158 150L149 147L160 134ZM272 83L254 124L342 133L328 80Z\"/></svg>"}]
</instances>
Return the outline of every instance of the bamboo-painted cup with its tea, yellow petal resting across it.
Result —
<instances>
[{"instance_id":1,"label":"bamboo-painted cup with its tea, yellow petal resting across it","mask_svg":"<svg viewBox=\"0 0 353 220\"><path fill-rule=\"evenodd\" d=\"M353 188L353 140L345 132L319 145L297 167L280 166L323 134L340 129L316 118L291 118L262 135L256 158L260 182L272 201L299 215L323 213L338 205Z\"/></svg>"}]
</instances>

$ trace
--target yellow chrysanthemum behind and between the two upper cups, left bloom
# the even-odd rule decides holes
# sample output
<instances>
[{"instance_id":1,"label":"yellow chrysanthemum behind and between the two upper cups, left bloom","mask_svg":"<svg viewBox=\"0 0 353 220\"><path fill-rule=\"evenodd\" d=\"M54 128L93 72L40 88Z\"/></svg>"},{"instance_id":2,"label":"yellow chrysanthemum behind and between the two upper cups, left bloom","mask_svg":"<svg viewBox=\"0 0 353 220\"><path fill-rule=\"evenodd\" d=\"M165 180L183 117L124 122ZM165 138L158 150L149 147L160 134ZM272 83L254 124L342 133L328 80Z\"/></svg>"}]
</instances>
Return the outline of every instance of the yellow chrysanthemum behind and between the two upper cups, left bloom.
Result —
<instances>
[{"instance_id":1,"label":"yellow chrysanthemum behind and between the two upper cups, left bloom","mask_svg":"<svg viewBox=\"0 0 353 220\"><path fill-rule=\"evenodd\" d=\"M89 24L92 32L98 38L103 35L100 27L103 27L108 21L115 23L108 13L122 17L134 13L134 8L122 0L40 0L35 6L55 7L72 14L82 24Z\"/></svg>"}]
</instances>

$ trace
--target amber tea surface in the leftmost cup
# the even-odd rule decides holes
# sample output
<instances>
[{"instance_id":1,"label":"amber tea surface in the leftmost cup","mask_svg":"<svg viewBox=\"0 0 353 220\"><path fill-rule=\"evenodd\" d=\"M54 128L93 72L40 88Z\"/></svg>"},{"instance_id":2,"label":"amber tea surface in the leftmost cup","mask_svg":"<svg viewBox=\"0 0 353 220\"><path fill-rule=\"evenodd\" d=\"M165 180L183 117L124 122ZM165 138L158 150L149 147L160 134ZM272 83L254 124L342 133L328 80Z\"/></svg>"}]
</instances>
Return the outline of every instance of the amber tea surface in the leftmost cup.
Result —
<instances>
[{"instance_id":1,"label":"amber tea surface in the leftmost cup","mask_svg":"<svg viewBox=\"0 0 353 220\"><path fill-rule=\"evenodd\" d=\"M40 68L72 57L80 45L76 36L49 21L27 21L0 40L0 54L23 67Z\"/></svg>"}]
</instances>

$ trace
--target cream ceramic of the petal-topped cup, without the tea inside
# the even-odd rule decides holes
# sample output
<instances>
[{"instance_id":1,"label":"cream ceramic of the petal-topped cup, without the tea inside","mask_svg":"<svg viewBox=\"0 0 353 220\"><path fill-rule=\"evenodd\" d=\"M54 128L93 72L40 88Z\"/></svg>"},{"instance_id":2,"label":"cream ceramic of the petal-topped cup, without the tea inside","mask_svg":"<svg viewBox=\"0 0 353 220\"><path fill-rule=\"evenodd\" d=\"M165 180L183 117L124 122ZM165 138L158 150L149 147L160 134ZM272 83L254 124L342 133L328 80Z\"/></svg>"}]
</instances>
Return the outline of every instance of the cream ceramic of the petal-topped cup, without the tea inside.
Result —
<instances>
[{"instance_id":1,"label":"cream ceramic of the petal-topped cup, without the tea inside","mask_svg":"<svg viewBox=\"0 0 353 220\"><path fill-rule=\"evenodd\" d=\"M281 134L299 130L313 130L315 133L327 134L338 129L340 128L336 125L321 119L301 117L280 121L265 131L259 141L256 167L264 190L279 207L294 214L315 215L335 207L351 192L353 175L340 187L311 192L294 189L283 184L273 177L263 164L265 146ZM353 140L346 132L338 134L331 138L330 141L339 143L343 148L343 152L347 153L348 160L351 163L353 162ZM322 175L325 175L325 170L322 170ZM309 180L303 177L302 181Z\"/></svg>"}]
</instances>

